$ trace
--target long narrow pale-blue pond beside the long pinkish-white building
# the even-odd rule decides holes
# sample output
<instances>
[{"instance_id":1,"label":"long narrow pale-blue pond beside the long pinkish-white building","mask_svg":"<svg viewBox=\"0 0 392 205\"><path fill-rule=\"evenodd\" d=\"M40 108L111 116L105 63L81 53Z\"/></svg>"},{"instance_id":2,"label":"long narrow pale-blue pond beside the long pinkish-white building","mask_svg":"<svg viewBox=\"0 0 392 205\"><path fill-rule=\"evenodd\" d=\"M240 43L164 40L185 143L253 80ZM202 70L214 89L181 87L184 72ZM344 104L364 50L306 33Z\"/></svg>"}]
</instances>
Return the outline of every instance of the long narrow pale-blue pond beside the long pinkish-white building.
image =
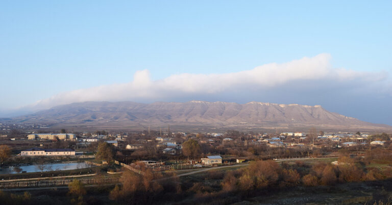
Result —
<instances>
[{"instance_id":1,"label":"long narrow pale-blue pond beside the long pinkish-white building","mask_svg":"<svg viewBox=\"0 0 392 205\"><path fill-rule=\"evenodd\" d=\"M71 169L82 169L88 167L94 167L94 165L87 164L86 162L35 164L35 165L26 165L26 166L2 167L0 169L0 174L41 172L41 171L61 171L61 170L71 170Z\"/></svg>"}]
</instances>

